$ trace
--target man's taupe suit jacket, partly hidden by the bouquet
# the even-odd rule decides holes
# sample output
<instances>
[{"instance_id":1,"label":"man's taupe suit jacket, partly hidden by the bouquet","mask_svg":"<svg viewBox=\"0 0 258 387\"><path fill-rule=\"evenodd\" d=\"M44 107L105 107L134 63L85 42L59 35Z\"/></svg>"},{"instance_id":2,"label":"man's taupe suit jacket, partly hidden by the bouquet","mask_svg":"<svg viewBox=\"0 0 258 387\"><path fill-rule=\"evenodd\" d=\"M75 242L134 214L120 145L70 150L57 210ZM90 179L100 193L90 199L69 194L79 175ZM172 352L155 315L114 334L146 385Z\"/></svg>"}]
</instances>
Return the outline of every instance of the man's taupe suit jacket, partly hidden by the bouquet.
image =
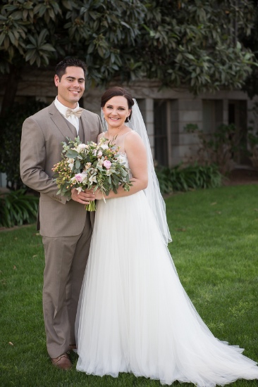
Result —
<instances>
[{"instance_id":1,"label":"man's taupe suit jacket, partly hidden by the bouquet","mask_svg":"<svg viewBox=\"0 0 258 387\"><path fill-rule=\"evenodd\" d=\"M83 110L81 124L87 141L97 141L102 132L99 116ZM27 186L40 193L38 224L42 236L75 236L82 232L86 211L83 205L57 195L54 164L59 163L62 141L74 139L69 124L54 102L27 118L20 147L20 175ZM92 216L92 215L91 215Z\"/></svg>"}]
</instances>

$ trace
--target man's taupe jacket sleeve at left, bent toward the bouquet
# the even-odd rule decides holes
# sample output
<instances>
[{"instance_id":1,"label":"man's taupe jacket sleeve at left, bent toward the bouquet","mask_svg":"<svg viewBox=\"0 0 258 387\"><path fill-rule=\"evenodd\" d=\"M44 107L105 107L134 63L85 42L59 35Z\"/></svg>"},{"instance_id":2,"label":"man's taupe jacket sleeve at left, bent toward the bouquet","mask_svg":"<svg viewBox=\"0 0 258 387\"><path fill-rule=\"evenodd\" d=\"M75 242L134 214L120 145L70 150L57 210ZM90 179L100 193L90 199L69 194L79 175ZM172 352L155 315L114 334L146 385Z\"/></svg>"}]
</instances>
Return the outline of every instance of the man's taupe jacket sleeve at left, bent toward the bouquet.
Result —
<instances>
[{"instance_id":1,"label":"man's taupe jacket sleeve at left, bent toward the bouquet","mask_svg":"<svg viewBox=\"0 0 258 387\"><path fill-rule=\"evenodd\" d=\"M66 197L56 195L59 188L45 172L46 157L42 128L33 117L29 117L23 122L20 141L20 177L31 189L65 204Z\"/></svg>"}]
</instances>

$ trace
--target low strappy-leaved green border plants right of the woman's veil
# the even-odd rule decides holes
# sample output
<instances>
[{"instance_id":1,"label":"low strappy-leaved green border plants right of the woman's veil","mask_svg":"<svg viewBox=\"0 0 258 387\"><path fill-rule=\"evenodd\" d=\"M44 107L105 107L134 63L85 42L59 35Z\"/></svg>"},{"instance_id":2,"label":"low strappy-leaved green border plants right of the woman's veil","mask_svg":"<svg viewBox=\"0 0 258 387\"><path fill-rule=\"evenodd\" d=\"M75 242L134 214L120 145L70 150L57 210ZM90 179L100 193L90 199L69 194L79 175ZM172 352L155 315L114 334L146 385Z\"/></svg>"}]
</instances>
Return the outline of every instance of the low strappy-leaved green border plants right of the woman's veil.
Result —
<instances>
[{"instance_id":1,"label":"low strappy-leaved green border plants right of the woman's veil","mask_svg":"<svg viewBox=\"0 0 258 387\"><path fill-rule=\"evenodd\" d=\"M188 165L188 167L157 167L161 194L190 189L214 188L221 186L221 172L217 165Z\"/></svg>"}]
</instances>

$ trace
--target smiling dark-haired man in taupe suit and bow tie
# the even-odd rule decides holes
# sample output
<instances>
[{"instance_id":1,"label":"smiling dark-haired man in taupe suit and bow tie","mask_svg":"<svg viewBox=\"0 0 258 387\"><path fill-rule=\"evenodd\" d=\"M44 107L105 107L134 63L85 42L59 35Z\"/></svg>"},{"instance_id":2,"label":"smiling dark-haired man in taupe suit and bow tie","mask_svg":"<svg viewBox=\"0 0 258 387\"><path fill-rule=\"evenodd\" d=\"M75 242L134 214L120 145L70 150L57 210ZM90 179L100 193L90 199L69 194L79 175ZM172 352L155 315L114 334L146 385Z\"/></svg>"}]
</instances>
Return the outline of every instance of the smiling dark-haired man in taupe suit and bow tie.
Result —
<instances>
[{"instance_id":1,"label":"smiling dark-haired man in taupe suit and bow tie","mask_svg":"<svg viewBox=\"0 0 258 387\"><path fill-rule=\"evenodd\" d=\"M72 364L68 350L75 348L75 317L90 250L92 222L84 205L94 196L72 191L72 200L57 195L52 168L61 160L61 141L78 135L82 142L97 141L102 125L97 114L79 108L85 90L85 63L74 58L56 65L57 96L47 108L23 123L20 175L23 183L40 193L37 225L45 254L43 312L47 350L61 369Z\"/></svg>"}]
</instances>

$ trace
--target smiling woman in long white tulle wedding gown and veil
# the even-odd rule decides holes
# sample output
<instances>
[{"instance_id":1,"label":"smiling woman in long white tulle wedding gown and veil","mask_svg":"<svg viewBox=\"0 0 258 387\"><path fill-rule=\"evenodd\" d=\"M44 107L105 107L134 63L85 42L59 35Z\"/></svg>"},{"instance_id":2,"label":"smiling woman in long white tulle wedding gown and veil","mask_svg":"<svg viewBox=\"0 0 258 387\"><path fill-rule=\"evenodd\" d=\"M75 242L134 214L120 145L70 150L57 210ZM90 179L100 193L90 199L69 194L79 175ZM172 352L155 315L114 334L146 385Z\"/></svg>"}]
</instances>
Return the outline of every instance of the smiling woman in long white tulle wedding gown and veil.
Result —
<instances>
[{"instance_id":1,"label":"smiling woman in long white tulle wedding gown and veil","mask_svg":"<svg viewBox=\"0 0 258 387\"><path fill-rule=\"evenodd\" d=\"M177 380L198 387L258 379L256 363L211 334L180 284L137 104L128 91L113 87L102 96L102 112L104 137L120 146L133 186L111 192L106 203L96 194L76 322L78 371L114 377L132 372L161 384Z\"/></svg>"}]
</instances>

